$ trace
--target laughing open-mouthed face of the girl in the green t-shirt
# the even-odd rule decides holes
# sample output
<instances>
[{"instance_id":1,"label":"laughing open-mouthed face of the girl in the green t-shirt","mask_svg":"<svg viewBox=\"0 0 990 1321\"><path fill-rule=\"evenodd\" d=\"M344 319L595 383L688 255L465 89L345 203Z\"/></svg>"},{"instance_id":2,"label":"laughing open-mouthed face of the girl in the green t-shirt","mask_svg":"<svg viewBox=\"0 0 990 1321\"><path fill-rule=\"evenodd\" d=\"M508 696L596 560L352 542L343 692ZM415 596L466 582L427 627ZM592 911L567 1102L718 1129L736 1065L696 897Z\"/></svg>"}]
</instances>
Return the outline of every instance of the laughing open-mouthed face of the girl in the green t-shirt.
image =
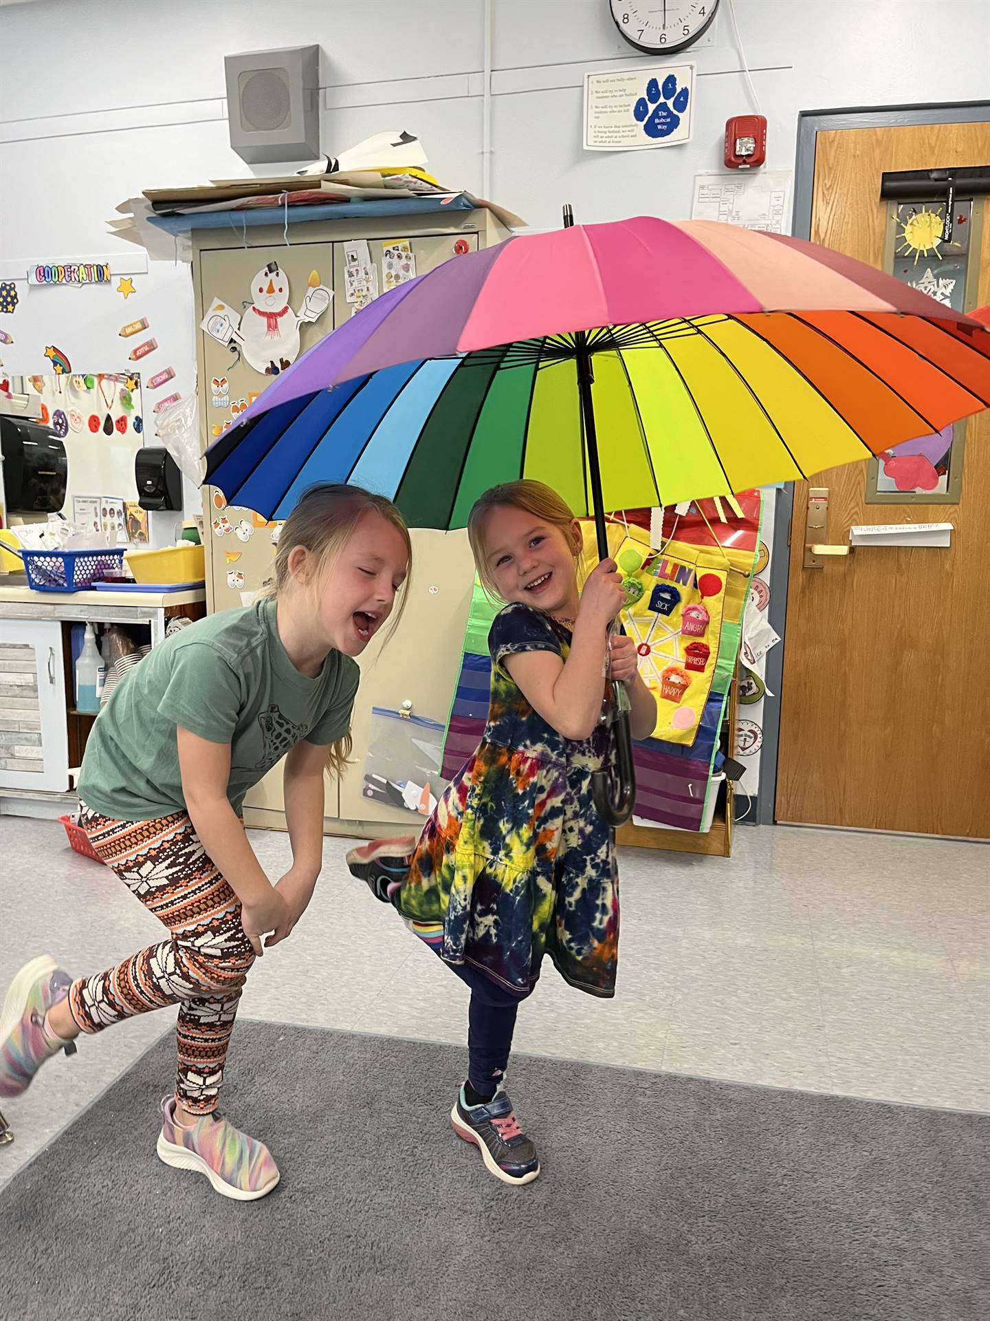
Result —
<instances>
[{"instance_id":1,"label":"laughing open-mouthed face of the girl in the green t-shirt","mask_svg":"<svg viewBox=\"0 0 990 1321\"><path fill-rule=\"evenodd\" d=\"M409 572L403 534L368 510L319 584L317 625L331 647L356 657L395 606Z\"/></svg>"}]
</instances>

